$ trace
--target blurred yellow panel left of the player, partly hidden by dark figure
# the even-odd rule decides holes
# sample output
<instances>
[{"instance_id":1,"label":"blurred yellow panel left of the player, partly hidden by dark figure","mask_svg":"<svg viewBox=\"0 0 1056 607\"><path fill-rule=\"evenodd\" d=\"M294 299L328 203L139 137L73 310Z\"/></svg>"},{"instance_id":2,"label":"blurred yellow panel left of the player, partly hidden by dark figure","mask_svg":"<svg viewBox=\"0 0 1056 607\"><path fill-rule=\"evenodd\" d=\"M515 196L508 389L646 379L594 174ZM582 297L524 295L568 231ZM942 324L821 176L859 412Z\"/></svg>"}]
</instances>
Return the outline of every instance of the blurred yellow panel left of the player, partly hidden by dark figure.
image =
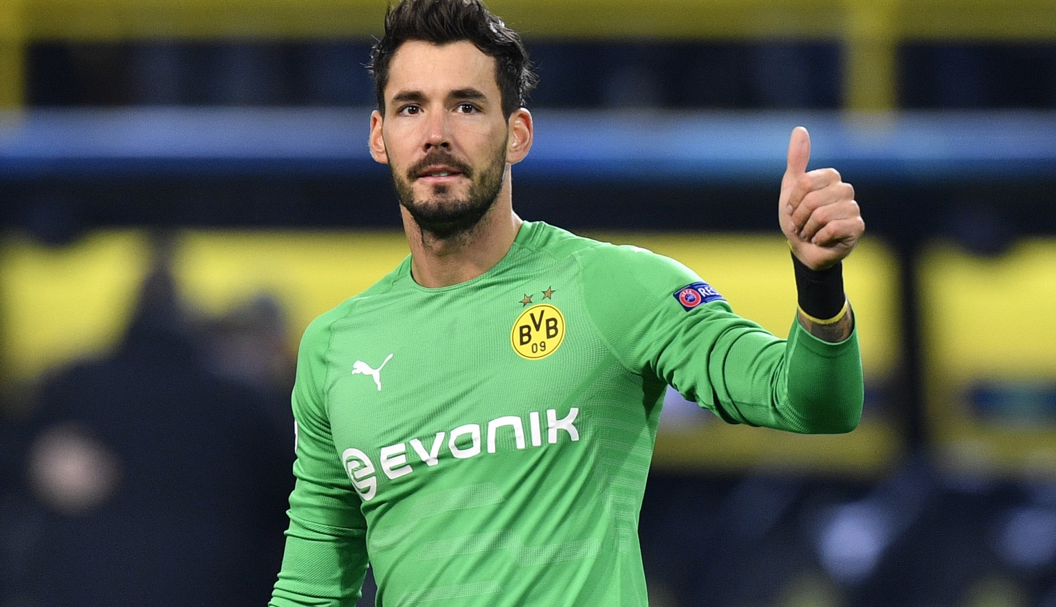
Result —
<instances>
[{"instance_id":1,"label":"blurred yellow panel left of the player, partly hidden by dark figure","mask_svg":"<svg viewBox=\"0 0 1056 607\"><path fill-rule=\"evenodd\" d=\"M218 315L278 297L297 343L313 318L365 289L408 254L398 232L208 232L177 239L173 272L192 309ZM0 246L0 369L27 381L113 346L150 259L142 230L100 231L62 249L11 236Z\"/></svg>"}]
</instances>

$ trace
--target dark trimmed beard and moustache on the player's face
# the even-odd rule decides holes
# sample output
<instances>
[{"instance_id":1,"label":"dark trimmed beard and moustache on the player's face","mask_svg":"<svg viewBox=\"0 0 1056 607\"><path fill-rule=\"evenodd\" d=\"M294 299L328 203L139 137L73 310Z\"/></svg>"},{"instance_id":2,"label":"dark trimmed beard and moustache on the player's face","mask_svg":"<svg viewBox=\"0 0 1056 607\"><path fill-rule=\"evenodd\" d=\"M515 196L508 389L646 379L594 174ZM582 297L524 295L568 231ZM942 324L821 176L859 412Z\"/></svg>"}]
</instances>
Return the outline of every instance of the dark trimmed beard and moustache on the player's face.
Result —
<instances>
[{"instance_id":1,"label":"dark trimmed beard and moustache on the player's face","mask_svg":"<svg viewBox=\"0 0 1056 607\"><path fill-rule=\"evenodd\" d=\"M477 172L469 165L457 160L451 154L432 151L420 162L415 163L406 175L399 175L390 165L393 186L399 204L414 217L418 228L439 240L449 240L469 233L480 223L503 188L503 174L506 171L506 141L491 156L490 163ZM461 173L470 179L466 196L457 198L447 185L433 186L432 195L425 200L415 197L412 182L431 165L445 165Z\"/></svg>"}]
</instances>

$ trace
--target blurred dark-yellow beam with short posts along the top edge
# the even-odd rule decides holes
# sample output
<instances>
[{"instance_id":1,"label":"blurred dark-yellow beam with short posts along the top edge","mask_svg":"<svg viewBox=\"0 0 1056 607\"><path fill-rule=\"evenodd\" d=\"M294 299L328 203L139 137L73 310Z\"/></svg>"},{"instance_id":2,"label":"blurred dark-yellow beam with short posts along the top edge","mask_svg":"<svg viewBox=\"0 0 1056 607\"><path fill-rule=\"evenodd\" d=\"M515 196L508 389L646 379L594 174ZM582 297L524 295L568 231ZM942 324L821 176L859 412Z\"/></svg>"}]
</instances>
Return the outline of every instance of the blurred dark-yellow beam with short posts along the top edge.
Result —
<instances>
[{"instance_id":1,"label":"blurred dark-yellow beam with short posts along the top edge","mask_svg":"<svg viewBox=\"0 0 1056 607\"><path fill-rule=\"evenodd\" d=\"M22 99L33 40L369 38L385 0L4 0L0 105ZM848 109L894 107L895 50L909 40L1056 39L1050 0L492 0L529 38L826 39L845 48Z\"/></svg>"}]
</instances>

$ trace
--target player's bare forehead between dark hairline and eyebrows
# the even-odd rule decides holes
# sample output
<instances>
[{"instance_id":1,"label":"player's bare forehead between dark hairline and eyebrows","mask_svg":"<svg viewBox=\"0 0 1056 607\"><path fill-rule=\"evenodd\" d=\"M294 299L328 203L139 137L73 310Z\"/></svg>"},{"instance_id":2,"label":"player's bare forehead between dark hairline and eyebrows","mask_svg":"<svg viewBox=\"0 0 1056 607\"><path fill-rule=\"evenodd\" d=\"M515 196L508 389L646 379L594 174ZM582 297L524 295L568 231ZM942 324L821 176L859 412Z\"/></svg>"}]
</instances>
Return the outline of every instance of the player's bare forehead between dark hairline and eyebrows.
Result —
<instances>
[{"instance_id":1,"label":"player's bare forehead between dark hairline and eyebrows","mask_svg":"<svg viewBox=\"0 0 1056 607\"><path fill-rule=\"evenodd\" d=\"M389 63L385 97L408 91L445 95L468 88L498 98L493 57L468 40L448 44L409 40L400 44Z\"/></svg>"}]
</instances>

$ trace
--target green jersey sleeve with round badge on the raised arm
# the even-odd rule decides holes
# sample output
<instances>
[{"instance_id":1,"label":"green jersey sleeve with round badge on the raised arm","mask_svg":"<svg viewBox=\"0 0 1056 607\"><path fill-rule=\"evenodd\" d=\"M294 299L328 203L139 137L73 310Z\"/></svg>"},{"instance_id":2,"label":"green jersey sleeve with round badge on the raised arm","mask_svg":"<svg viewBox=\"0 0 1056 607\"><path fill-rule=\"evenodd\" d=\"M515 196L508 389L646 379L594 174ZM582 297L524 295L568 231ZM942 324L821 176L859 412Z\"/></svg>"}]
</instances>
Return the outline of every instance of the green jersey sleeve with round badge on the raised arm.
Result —
<instances>
[{"instance_id":1,"label":"green jersey sleeve with round badge on the raised arm","mask_svg":"<svg viewBox=\"0 0 1056 607\"><path fill-rule=\"evenodd\" d=\"M635 247L600 253L581 258L587 308L628 371L659 378L731 423L798 433L857 425L856 331L828 343L793 320L789 339L779 339L674 260Z\"/></svg>"}]
</instances>

